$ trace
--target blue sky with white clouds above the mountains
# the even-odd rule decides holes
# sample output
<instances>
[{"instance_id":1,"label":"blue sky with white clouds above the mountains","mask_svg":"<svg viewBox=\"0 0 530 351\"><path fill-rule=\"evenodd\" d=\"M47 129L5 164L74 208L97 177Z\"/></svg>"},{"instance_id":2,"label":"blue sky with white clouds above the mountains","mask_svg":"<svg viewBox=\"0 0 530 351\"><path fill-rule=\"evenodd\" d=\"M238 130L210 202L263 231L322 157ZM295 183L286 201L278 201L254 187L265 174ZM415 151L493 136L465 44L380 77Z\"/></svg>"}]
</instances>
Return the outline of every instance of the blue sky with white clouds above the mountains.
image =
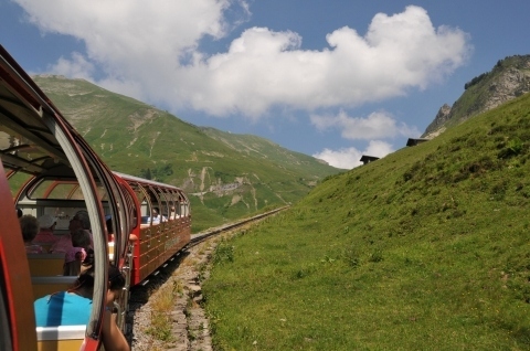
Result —
<instances>
[{"instance_id":1,"label":"blue sky with white clouds above the mountains","mask_svg":"<svg viewBox=\"0 0 530 351\"><path fill-rule=\"evenodd\" d=\"M30 74L352 168L530 54L528 13L528 0L0 0L0 44Z\"/></svg>"}]
</instances>

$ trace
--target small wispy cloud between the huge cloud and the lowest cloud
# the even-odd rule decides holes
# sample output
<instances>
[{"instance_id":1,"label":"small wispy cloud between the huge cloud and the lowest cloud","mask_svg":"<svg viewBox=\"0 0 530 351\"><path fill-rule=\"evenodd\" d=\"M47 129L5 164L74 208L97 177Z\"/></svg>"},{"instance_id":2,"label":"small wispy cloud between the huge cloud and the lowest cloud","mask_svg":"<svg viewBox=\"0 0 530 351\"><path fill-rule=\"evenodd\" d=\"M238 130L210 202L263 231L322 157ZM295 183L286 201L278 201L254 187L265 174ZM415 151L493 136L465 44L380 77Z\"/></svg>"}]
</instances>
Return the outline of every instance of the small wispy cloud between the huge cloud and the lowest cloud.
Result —
<instances>
[{"instance_id":1,"label":"small wispy cloud between the huge cloud and the lowest cloud","mask_svg":"<svg viewBox=\"0 0 530 351\"><path fill-rule=\"evenodd\" d=\"M395 136L416 137L420 135L415 127L399 124L386 111L372 113L367 118L360 118L350 117L341 110L337 116L311 115L310 119L317 129L340 129L342 138L351 140L393 138Z\"/></svg>"}]
</instances>

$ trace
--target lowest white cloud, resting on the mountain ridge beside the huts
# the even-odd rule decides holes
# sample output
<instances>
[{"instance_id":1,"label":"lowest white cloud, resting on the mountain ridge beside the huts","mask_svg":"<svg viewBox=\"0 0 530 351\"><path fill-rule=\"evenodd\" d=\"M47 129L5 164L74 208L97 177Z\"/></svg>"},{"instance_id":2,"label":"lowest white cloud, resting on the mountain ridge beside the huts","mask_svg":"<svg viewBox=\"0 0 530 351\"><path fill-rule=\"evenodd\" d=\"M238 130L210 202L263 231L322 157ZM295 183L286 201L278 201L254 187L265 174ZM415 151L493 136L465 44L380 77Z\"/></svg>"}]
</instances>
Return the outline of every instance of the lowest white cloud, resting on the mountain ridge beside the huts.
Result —
<instances>
[{"instance_id":1,"label":"lowest white cloud, resting on the mountain ridge beside the huts","mask_svg":"<svg viewBox=\"0 0 530 351\"><path fill-rule=\"evenodd\" d=\"M381 140L372 140L364 151L356 148L343 148L339 150L324 149L324 151L315 153L312 157L325 160L330 166L337 168L352 169L362 164L360 160L363 155L382 158L393 151L390 143Z\"/></svg>"}]
</instances>

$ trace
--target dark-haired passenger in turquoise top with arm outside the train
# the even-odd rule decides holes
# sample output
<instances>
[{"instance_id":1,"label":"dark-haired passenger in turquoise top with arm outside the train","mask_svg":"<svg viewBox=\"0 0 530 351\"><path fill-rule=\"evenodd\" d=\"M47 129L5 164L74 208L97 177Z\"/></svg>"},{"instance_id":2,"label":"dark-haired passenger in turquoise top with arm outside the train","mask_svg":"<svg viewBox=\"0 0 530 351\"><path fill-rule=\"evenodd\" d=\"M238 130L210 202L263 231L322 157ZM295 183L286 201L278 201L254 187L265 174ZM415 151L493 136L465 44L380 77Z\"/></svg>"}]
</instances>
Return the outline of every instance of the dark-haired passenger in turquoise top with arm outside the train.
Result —
<instances>
[{"instance_id":1,"label":"dark-haired passenger in turquoise top with arm outside the train","mask_svg":"<svg viewBox=\"0 0 530 351\"><path fill-rule=\"evenodd\" d=\"M94 295L94 267L80 275L67 291L55 292L34 302L36 327L87 325ZM105 350L130 350L113 316L114 300L125 287L125 277L115 266L108 267L108 289L103 316L102 341Z\"/></svg>"}]
</instances>

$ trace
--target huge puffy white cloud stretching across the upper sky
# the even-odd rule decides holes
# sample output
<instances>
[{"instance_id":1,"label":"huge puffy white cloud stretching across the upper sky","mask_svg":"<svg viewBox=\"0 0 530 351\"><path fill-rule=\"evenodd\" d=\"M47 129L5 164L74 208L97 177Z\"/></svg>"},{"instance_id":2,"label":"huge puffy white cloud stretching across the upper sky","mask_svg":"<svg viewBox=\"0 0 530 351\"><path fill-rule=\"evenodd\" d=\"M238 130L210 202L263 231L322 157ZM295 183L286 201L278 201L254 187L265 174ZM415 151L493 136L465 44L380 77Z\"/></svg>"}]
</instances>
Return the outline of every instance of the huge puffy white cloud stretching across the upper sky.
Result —
<instances>
[{"instance_id":1,"label":"huge puffy white cloud stretching across the upper sky","mask_svg":"<svg viewBox=\"0 0 530 351\"><path fill-rule=\"evenodd\" d=\"M98 84L219 116L259 118L273 106L314 110L404 95L451 74L469 53L464 32L434 28L418 7L375 14L363 36L348 26L337 29L321 51L304 50L294 32L251 28L226 52L209 55L199 51L200 41L223 38L231 25L224 11L235 6L245 18L247 2L15 1L43 32L82 40L83 60L104 70ZM57 71L93 73L91 65L83 71L80 57L74 56L70 71L64 60Z\"/></svg>"}]
</instances>

